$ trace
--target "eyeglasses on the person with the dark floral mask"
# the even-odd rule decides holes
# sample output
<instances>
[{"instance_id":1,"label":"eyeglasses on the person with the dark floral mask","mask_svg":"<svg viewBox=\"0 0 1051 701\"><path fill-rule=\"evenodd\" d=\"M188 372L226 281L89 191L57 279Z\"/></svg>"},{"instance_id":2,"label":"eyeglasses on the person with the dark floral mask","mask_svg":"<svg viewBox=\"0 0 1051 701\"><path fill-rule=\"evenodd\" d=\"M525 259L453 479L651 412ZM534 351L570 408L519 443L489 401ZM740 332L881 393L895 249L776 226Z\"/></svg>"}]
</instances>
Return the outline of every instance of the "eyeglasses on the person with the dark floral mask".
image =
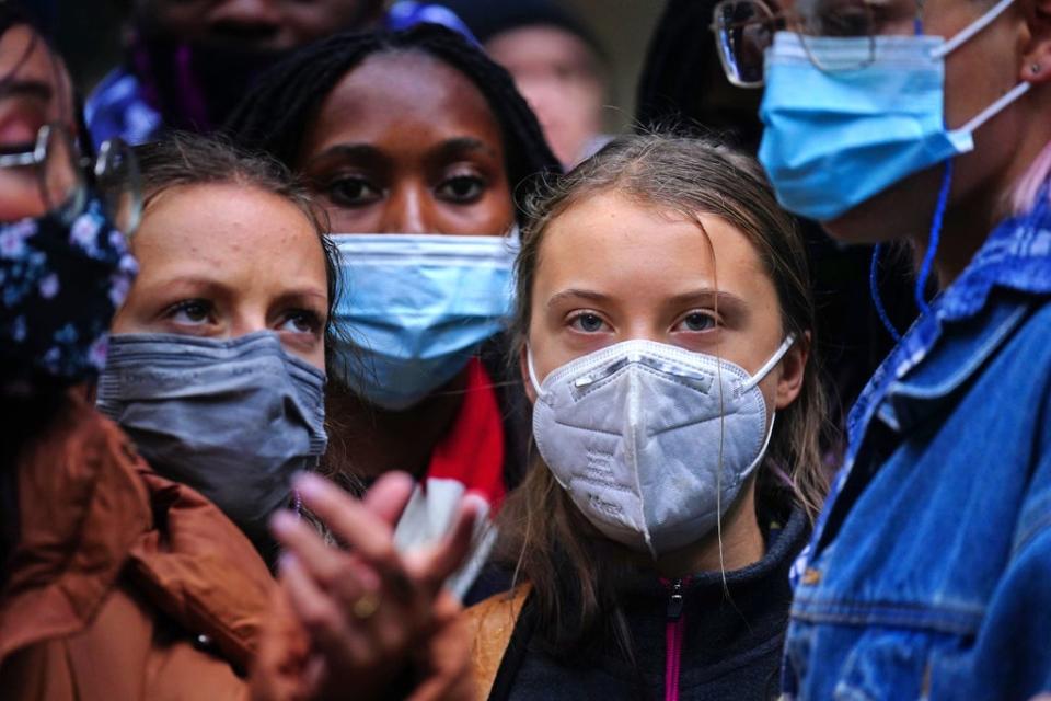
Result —
<instances>
[{"instance_id":1,"label":"eyeglasses on the person with the dark floral mask","mask_svg":"<svg viewBox=\"0 0 1051 701\"><path fill-rule=\"evenodd\" d=\"M138 229L142 215L139 166L131 149L112 139L99 149L94 160L84 157L69 130L46 124L36 135L32 150L0 154L0 168L35 169L41 198L47 211L72 221L88 204L92 184L109 219L126 235Z\"/></svg>"}]
</instances>

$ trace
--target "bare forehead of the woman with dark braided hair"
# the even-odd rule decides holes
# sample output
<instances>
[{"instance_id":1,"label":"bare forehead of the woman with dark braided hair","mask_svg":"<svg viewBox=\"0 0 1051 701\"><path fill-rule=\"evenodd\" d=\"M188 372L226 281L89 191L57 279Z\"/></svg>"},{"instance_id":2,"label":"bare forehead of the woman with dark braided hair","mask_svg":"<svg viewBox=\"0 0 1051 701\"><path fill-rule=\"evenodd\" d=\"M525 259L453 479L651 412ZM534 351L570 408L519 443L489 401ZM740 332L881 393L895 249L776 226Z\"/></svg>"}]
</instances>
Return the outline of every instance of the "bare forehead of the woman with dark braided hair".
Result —
<instances>
[{"instance_id":1,"label":"bare forehead of the woman with dark braided hair","mask_svg":"<svg viewBox=\"0 0 1051 701\"><path fill-rule=\"evenodd\" d=\"M302 153L425 135L474 137L503 152L496 115L466 76L423 51L376 54L344 76L322 103Z\"/></svg>"}]
</instances>

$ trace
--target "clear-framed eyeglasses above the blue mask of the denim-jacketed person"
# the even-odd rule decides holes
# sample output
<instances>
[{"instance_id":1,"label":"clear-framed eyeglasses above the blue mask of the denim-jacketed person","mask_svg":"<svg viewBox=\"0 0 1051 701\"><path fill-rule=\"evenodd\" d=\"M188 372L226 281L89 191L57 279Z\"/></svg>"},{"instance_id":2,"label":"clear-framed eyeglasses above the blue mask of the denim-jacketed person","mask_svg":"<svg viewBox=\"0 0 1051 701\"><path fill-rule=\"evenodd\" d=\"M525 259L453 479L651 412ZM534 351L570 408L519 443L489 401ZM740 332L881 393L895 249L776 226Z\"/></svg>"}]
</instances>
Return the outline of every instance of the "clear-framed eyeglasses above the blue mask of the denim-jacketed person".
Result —
<instances>
[{"instance_id":1,"label":"clear-framed eyeglasses above the blue mask of the denim-jacketed person","mask_svg":"<svg viewBox=\"0 0 1051 701\"><path fill-rule=\"evenodd\" d=\"M727 80L740 88L759 88L776 32L798 34L810 62L822 71L858 70L876 59L877 36L914 33L919 11L920 4L912 1L804 0L790 14L775 14L760 0L723 0L715 5L711 28ZM843 51L829 37L864 38L867 44Z\"/></svg>"}]
</instances>

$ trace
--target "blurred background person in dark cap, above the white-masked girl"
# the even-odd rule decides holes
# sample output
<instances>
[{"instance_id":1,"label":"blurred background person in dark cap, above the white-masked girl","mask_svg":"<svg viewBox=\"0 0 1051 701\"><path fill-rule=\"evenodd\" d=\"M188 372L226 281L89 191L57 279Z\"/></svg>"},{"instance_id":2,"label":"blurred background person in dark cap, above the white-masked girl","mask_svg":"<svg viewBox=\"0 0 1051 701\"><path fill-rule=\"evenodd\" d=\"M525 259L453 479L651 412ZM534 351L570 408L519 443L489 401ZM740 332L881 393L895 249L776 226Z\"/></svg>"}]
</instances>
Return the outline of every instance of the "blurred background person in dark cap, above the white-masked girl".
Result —
<instances>
[{"instance_id":1,"label":"blurred background person in dark cap, above the white-masked girl","mask_svg":"<svg viewBox=\"0 0 1051 701\"><path fill-rule=\"evenodd\" d=\"M566 168L597 151L610 97L609 58L584 20L554 0L441 0L515 77Z\"/></svg>"}]
</instances>

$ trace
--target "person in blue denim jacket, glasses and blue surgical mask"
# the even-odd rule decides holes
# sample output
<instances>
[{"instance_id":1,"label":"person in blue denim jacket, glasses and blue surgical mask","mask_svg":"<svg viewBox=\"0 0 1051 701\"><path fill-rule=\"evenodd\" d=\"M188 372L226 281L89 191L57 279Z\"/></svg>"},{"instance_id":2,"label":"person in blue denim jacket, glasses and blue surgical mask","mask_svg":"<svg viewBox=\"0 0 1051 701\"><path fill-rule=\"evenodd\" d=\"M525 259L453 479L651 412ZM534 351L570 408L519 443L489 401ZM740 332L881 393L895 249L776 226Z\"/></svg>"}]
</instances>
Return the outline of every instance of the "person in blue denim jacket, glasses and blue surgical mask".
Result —
<instances>
[{"instance_id":1,"label":"person in blue denim jacket, glasses and blue surgical mask","mask_svg":"<svg viewBox=\"0 0 1051 701\"><path fill-rule=\"evenodd\" d=\"M1051 4L732 0L714 28L765 81L779 200L919 271L800 560L785 691L1051 688Z\"/></svg>"}]
</instances>

